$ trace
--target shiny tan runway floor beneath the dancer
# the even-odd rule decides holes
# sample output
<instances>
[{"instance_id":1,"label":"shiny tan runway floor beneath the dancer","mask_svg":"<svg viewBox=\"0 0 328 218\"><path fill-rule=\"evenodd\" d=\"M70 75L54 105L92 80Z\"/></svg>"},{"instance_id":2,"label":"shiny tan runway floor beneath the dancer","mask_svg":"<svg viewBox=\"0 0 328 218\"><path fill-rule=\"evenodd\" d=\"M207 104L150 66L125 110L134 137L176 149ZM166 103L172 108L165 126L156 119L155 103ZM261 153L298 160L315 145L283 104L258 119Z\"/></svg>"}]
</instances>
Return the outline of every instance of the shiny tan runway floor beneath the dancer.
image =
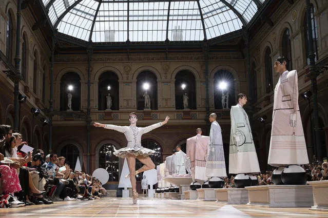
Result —
<instances>
[{"instance_id":1,"label":"shiny tan runway floor beneath the dancer","mask_svg":"<svg viewBox=\"0 0 328 218\"><path fill-rule=\"evenodd\" d=\"M203 201L141 199L132 205L130 199L104 198L94 201L55 202L22 208L0 209L0 217L67 218L67 217L328 217L328 211L308 208L267 208L227 205Z\"/></svg>"}]
</instances>

